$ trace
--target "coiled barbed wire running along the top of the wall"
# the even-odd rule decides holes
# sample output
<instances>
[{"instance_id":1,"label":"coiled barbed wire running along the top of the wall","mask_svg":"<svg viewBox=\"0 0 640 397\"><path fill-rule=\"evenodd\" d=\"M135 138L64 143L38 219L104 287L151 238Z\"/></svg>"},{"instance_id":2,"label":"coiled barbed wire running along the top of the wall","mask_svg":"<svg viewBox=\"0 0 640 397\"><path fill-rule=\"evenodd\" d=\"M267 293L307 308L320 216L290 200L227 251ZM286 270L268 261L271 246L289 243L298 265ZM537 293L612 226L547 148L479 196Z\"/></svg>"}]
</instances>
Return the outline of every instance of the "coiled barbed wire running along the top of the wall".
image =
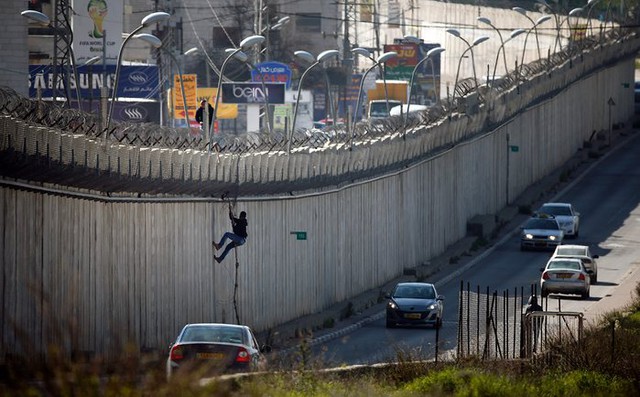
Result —
<instances>
[{"instance_id":1,"label":"coiled barbed wire running along the top of the wall","mask_svg":"<svg viewBox=\"0 0 640 397\"><path fill-rule=\"evenodd\" d=\"M264 129L254 133L215 134L212 142L208 142L200 131L153 123L114 122L109 131L104 131L101 129L99 116L80 109L68 109L54 103L28 99L8 87L0 87L0 113L45 127L145 147L183 150L212 150L215 147L218 152L231 154L283 151L288 148L295 150L299 147L321 148L327 145L340 147L341 143L353 145L382 136L404 134L409 129L434 123L462 109L466 98L479 87L482 87L482 90L477 95L477 104L481 105L488 99L500 96L501 93L513 89L521 82L549 71L583 51L593 50L605 42L620 40L624 34L622 29L612 29L601 32L597 36L589 36L579 42L570 43L561 51L550 54L548 58L521 65L495 82L480 82L473 77L460 80L454 87L453 97L443 98L424 111L411 113L410 117L406 117L406 123L405 117L392 116L374 122L361 121L356 124L353 131L349 131L346 125L324 129L296 128L290 136L290 143L288 134L277 129L271 132ZM490 95L487 94L488 91L491 92Z\"/></svg>"}]
</instances>

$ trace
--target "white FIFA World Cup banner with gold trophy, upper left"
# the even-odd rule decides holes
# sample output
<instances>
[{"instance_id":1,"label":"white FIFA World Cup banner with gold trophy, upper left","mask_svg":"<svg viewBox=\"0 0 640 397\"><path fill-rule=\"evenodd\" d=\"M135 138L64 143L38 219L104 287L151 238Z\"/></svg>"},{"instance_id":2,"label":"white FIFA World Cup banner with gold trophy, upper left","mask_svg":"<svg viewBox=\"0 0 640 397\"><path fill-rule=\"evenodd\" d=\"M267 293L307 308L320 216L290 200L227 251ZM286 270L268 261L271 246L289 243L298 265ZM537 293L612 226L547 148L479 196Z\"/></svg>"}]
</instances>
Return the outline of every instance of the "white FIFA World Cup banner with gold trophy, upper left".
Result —
<instances>
[{"instance_id":1,"label":"white FIFA World Cup banner with gold trophy, upper left","mask_svg":"<svg viewBox=\"0 0 640 397\"><path fill-rule=\"evenodd\" d=\"M115 65L122 44L124 0L72 0L73 52L82 65L106 52L106 63Z\"/></svg>"}]
</instances>

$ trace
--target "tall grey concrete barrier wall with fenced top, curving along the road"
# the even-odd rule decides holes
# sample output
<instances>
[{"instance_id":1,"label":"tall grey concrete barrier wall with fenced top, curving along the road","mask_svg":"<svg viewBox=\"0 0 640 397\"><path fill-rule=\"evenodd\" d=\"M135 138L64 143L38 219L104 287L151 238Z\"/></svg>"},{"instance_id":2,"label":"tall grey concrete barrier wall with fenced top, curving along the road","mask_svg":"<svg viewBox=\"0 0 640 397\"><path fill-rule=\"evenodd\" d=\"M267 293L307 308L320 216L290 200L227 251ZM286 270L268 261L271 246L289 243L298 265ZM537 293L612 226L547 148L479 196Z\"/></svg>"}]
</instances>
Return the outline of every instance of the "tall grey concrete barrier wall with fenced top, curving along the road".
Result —
<instances>
[{"instance_id":1,"label":"tall grey concrete barrier wall with fenced top, curving along the road","mask_svg":"<svg viewBox=\"0 0 640 397\"><path fill-rule=\"evenodd\" d=\"M455 113L409 131L406 141L389 137L353 151L221 155L217 164L215 156L106 147L3 117L1 150L33 155L46 142L62 143L63 162L71 161L69 148L78 150L76 158L84 148L90 162L112 151L156 178L162 158L204 167L203 183L265 186L278 178L355 174L385 162L410 165L309 194L239 198L249 238L237 250L237 268L233 253L222 264L213 261L211 241L230 227L226 203L109 199L4 180L0 358L27 346L44 352L48 343L97 353L118 352L124 341L163 349L184 323L235 322L236 308L241 322L266 330L375 288L443 252L465 235L473 216L496 213L507 203L507 190L515 197L564 163L594 129L607 127L609 97L617 103L612 121L628 120L633 84L624 83L633 82L638 45L627 40L584 54L477 113ZM627 52L617 64L606 62ZM517 153L507 150L507 134ZM297 240L297 231L307 239Z\"/></svg>"}]
</instances>

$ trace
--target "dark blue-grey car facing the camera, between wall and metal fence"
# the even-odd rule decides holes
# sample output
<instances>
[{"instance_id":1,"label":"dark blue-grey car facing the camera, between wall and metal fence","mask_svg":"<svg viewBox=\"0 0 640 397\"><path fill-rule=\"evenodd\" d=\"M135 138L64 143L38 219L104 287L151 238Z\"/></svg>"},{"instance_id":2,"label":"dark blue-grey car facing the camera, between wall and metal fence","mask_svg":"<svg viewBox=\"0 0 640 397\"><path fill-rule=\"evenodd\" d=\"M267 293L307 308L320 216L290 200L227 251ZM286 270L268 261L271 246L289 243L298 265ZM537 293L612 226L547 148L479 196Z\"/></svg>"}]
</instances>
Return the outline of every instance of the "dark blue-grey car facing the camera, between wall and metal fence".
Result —
<instances>
[{"instance_id":1,"label":"dark blue-grey car facing the camera, between wall and metal fence","mask_svg":"<svg viewBox=\"0 0 640 397\"><path fill-rule=\"evenodd\" d=\"M399 283L387 295L387 328L396 325L442 326L444 296L429 283Z\"/></svg>"}]
</instances>

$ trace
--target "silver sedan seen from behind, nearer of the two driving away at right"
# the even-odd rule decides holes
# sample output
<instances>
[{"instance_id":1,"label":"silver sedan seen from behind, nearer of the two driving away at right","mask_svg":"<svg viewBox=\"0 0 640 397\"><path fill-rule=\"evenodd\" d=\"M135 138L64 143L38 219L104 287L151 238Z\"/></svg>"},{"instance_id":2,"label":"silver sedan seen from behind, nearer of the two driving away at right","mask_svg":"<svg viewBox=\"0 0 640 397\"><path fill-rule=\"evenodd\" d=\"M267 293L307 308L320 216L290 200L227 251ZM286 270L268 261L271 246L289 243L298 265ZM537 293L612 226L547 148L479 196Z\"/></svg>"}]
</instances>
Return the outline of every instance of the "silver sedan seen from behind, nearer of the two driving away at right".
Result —
<instances>
[{"instance_id":1,"label":"silver sedan seen from behind, nearer of the two driving away at right","mask_svg":"<svg viewBox=\"0 0 640 397\"><path fill-rule=\"evenodd\" d=\"M540 269L540 295L577 294L586 299L591 290L591 276L577 258L551 258Z\"/></svg>"}]
</instances>

